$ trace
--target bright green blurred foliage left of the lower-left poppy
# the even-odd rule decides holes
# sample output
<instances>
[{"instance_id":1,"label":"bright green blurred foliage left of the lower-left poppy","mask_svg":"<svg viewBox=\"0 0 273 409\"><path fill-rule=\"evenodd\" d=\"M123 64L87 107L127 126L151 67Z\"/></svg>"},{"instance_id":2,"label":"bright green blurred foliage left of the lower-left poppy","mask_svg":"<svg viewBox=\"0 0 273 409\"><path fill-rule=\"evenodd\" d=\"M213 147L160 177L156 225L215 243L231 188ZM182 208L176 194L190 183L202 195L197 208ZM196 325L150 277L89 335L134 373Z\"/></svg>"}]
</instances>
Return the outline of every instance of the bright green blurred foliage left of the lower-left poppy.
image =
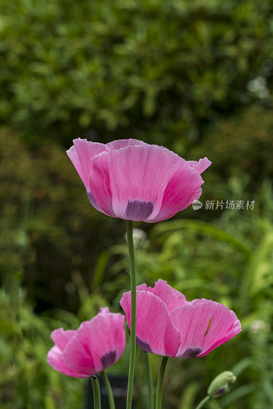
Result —
<instances>
[{"instance_id":1,"label":"bright green blurred foliage left of the lower-left poppy","mask_svg":"<svg viewBox=\"0 0 273 409\"><path fill-rule=\"evenodd\" d=\"M17 299L19 308L14 311L12 298L3 290L0 293L1 407L77 407L82 401L83 385L78 379L61 377L56 371L49 371L46 361L52 346L50 330L65 323L69 328L74 327L76 320L68 313L62 316L62 320L38 317L24 298L20 291L21 302Z\"/></svg>"}]
</instances>

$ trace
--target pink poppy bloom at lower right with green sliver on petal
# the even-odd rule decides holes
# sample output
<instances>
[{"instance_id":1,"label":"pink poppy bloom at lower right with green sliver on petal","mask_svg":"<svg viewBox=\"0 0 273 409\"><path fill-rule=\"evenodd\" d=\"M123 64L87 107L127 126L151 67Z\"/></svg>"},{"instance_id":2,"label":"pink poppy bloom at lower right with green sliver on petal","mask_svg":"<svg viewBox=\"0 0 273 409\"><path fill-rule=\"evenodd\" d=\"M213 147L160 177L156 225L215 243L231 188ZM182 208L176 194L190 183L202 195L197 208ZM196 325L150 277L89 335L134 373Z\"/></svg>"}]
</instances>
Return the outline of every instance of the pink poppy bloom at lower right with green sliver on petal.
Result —
<instances>
[{"instance_id":1,"label":"pink poppy bloom at lower right with green sliver on petal","mask_svg":"<svg viewBox=\"0 0 273 409\"><path fill-rule=\"evenodd\" d=\"M131 328L131 291L120 305ZM144 351L163 356L204 356L241 331L236 314L211 300L187 302L166 281L137 287L136 343Z\"/></svg>"}]
</instances>

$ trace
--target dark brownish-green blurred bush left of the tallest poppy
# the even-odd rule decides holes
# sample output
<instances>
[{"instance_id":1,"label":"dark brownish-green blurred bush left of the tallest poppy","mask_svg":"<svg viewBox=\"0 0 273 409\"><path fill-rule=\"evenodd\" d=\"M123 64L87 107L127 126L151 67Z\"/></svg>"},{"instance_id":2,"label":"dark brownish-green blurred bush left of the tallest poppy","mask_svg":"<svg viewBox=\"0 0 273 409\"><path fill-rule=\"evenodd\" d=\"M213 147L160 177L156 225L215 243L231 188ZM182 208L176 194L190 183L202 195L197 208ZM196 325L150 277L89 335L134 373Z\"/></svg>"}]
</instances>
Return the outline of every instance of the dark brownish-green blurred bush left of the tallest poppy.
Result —
<instances>
[{"instance_id":1,"label":"dark brownish-green blurred bush left of the tallest poppy","mask_svg":"<svg viewBox=\"0 0 273 409\"><path fill-rule=\"evenodd\" d=\"M23 265L38 310L75 311L78 272L89 282L101 249L125 228L92 208L65 149L41 139L29 148L26 138L1 131L0 273Z\"/></svg>"}]
</instances>

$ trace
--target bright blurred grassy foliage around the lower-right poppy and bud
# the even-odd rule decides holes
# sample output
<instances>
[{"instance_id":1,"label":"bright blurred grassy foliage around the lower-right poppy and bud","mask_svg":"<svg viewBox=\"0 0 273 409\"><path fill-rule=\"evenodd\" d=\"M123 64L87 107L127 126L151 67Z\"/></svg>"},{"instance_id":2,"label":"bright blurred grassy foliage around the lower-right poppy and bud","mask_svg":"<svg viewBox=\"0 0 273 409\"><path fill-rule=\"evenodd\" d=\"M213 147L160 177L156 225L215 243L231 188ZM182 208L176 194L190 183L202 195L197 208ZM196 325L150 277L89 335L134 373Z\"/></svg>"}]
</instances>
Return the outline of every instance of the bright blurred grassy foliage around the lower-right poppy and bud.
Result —
<instances>
[{"instance_id":1,"label":"bright blurred grassy foliage around the lower-right poppy and bud","mask_svg":"<svg viewBox=\"0 0 273 409\"><path fill-rule=\"evenodd\" d=\"M234 180L230 194L233 186ZM205 358L171 360L165 380L168 408L193 409L205 396L209 381L224 370L232 370L238 380L233 392L219 405L209 403L209 409L272 407L273 206L268 182L254 200L254 210L225 210L214 223L178 219L156 223L146 238L136 233L139 284L153 285L161 278L187 300L217 300L236 311L243 329ZM113 246L109 254L121 258L110 268L109 282L105 270L100 271L100 290L116 293L117 307L123 289L129 289L126 244ZM153 363L158 373L155 356Z\"/></svg>"}]
</instances>

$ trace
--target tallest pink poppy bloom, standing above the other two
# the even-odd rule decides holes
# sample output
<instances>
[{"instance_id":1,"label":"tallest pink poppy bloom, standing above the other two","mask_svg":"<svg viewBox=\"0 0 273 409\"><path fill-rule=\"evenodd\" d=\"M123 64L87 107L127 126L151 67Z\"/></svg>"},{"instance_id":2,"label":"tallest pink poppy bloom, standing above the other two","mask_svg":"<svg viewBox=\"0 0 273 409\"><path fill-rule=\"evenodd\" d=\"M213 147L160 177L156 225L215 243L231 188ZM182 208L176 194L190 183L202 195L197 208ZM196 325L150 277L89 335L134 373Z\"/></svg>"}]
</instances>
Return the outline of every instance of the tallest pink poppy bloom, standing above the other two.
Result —
<instances>
[{"instance_id":1,"label":"tallest pink poppy bloom, standing above the other two","mask_svg":"<svg viewBox=\"0 0 273 409\"><path fill-rule=\"evenodd\" d=\"M211 162L185 161L162 146L136 139L106 145L75 139L67 154L98 211L149 223L169 219L201 193L200 174Z\"/></svg>"}]
</instances>

